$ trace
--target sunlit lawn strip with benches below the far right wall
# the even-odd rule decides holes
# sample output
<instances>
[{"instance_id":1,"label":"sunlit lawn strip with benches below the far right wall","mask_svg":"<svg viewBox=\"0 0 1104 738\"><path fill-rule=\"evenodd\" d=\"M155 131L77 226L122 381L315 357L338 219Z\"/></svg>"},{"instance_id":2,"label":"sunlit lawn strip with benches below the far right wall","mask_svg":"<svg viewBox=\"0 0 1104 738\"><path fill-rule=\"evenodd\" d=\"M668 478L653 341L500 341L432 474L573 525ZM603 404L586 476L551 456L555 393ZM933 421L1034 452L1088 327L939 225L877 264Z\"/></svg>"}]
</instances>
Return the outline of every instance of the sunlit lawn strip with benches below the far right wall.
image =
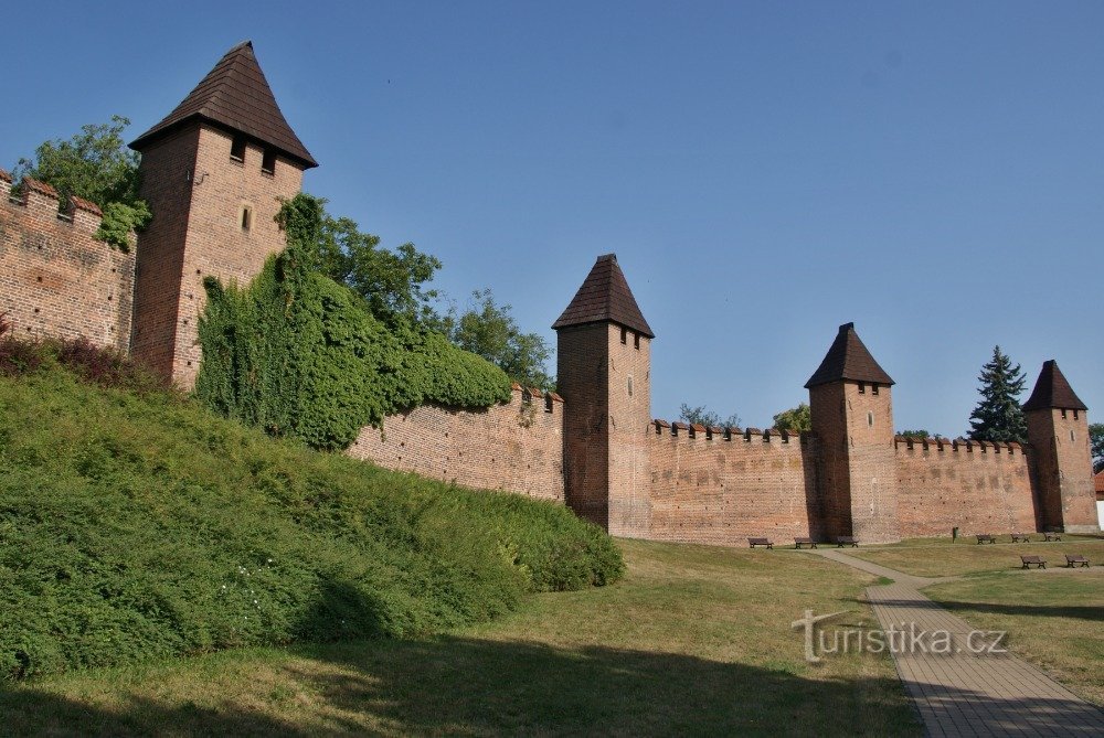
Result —
<instances>
[{"instance_id":1,"label":"sunlit lawn strip with benches below the far right wall","mask_svg":"<svg viewBox=\"0 0 1104 738\"><path fill-rule=\"evenodd\" d=\"M847 554L920 577L955 577L979 571L1019 569L1020 555L1041 556L1047 566L1064 566L1065 554L1081 554L1094 565L1104 564L1104 538L1062 536L1062 541L1042 543L1042 535L1031 543L1009 543L1000 535L998 543L978 544L973 536L959 538L914 538L900 544L848 548Z\"/></svg>"}]
</instances>

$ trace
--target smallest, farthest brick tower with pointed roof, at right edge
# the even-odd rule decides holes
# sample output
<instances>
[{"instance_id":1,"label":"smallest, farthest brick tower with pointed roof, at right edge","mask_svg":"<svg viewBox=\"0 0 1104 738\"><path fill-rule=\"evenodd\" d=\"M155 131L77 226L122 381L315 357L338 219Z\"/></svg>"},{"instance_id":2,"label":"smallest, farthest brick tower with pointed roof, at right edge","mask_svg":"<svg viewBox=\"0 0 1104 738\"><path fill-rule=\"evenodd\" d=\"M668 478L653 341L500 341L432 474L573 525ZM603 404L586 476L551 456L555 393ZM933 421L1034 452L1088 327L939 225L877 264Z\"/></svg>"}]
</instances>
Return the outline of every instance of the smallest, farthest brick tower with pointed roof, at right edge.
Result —
<instances>
[{"instance_id":1,"label":"smallest, farthest brick tower with pointed roof, at right edge","mask_svg":"<svg viewBox=\"0 0 1104 738\"><path fill-rule=\"evenodd\" d=\"M1043 362L1023 413L1034 457L1039 518L1045 528L1100 532L1087 409L1058 368L1058 362Z\"/></svg>"}]
</instances>

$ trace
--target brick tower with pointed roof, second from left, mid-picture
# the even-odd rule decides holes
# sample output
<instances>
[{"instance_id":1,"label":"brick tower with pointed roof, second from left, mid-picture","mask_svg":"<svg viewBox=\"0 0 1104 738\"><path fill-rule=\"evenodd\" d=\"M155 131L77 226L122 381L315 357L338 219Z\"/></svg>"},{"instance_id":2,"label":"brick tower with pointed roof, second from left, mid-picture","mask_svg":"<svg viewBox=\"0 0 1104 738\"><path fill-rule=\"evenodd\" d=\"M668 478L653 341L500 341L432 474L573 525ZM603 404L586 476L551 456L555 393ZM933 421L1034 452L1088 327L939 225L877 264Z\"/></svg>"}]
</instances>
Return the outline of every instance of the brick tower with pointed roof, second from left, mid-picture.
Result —
<instances>
[{"instance_id":1,"label":"brick tower with pointed roof, second from left, mid-picture","mask_svg":"<svg viewBox=\"0 0 1104 738\"><path fill-rule=\"evenodd\" d=\"M643 537L650 523L648 424L655 334L617 256L595 261L553 323L564 398L567 504L613 535Z\"/></svg>"}]
</instances>

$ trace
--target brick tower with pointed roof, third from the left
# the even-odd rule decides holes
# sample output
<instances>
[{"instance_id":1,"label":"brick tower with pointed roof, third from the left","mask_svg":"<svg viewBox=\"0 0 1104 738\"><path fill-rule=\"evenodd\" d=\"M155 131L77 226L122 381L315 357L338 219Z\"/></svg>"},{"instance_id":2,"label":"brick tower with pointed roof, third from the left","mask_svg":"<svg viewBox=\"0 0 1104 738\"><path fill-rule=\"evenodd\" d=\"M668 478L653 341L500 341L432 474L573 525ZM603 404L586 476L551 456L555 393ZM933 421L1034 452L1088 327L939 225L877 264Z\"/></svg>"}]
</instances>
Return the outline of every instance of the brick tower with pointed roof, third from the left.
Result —
<instances>
[{"instance_id":1,"label":"brick tower with pointed roof, third from the left","mask_svg":"<svg viewBox=\"0 0 1104 738\"><path fill-rule=\"evenodd\" d=\"M828 535L869 543L901 538L892 385L854 323L839 327L820 367L805 383L820 451L817 486Z\"/></svg>"}]
</instances>

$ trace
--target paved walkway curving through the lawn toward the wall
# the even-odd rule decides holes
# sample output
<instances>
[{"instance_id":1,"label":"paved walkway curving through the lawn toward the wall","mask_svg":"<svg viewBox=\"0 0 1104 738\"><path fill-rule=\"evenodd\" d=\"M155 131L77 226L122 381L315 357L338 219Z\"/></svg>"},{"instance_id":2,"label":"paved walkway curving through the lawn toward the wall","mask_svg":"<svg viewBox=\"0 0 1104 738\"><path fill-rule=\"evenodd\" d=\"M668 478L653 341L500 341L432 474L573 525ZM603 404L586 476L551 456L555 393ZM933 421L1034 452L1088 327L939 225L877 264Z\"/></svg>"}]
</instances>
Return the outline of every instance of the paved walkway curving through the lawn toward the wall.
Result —
<instances>
[{"instance_id":1,"label":"paved walkway curving through the lawn toward the wall","mask_svg":"<svg viewBox=\"0 0 1104 738\"><path fill-rule=\"evenodd\" d=\"M992 638L973 629L920 593L921 587L946 581L915 577L848 556L818 553L848 566L893 579L868 587L883 631L891 627L949 633L949 653L894 649L898 674L916 704L930 736L1104 736L1104 712L1086 703L1039 669L1010 653L975 653ZM936 637L936 640L938 637ZM920 639L937 650L945 642ZM974 646L972 650L970 646Z\"/></svg>"}]
</instances>

